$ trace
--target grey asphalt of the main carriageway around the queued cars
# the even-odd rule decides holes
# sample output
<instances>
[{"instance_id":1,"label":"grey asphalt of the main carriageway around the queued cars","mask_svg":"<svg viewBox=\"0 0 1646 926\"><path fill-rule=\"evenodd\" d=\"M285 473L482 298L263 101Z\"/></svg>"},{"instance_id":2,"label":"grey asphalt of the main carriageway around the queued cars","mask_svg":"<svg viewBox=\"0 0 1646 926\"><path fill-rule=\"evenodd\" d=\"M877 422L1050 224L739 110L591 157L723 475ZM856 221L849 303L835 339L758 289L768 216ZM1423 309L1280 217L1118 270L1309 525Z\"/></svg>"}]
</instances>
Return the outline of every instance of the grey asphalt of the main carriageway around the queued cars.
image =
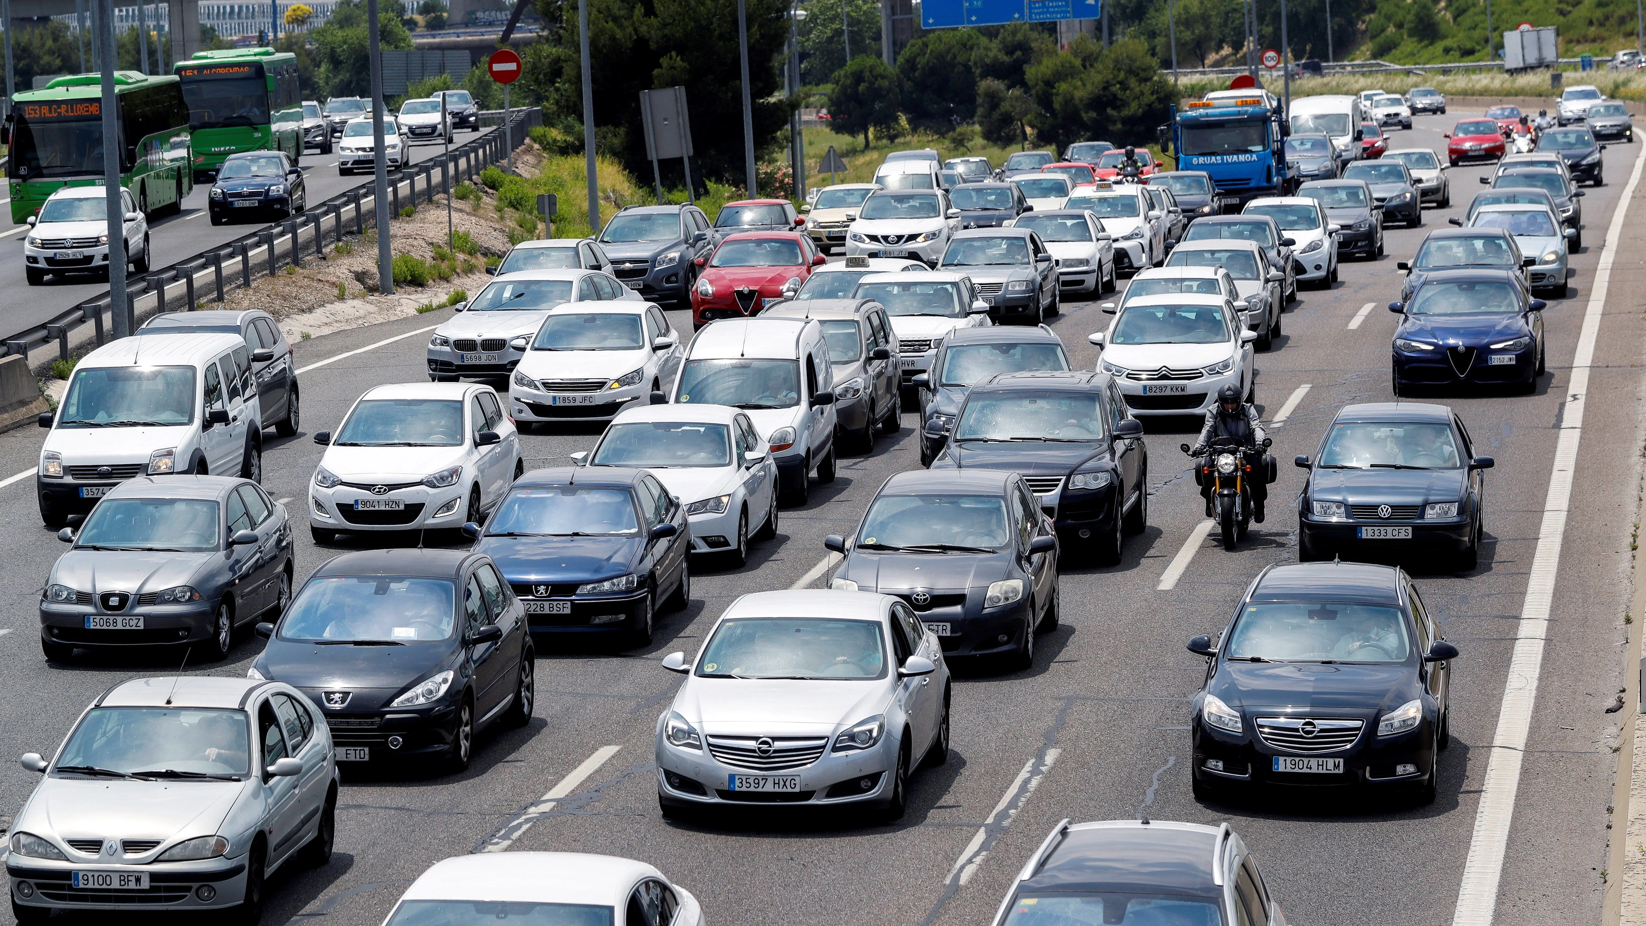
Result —
<instances>
[{"instance_id":1,"label":"grey asphalt of the main carriageway around the queued cars","mask_svg":"<svg viewBox=\"0 0 1646 926\"><path fill-rule=\"evenodd\" d=\"M1419 117L1412 132L1394 133L1391 146L1444 150L1440 133L1460 115L1467 113ZM652 743L657 715L678 684L658 661L677 650L695 651L739 594L826 584L823 536L849 533L889 474L918 465L914 414L904 416L899 434L882 436L872 454L841 457L836 482L816 485L807 507L785 508L777 539L752 544L744 569L695 566L695 599L685 612L660 615L652 646L609 653L540 641L537 717L525 729L482 735L467 773L347 771L331 863L272 878L265 923L375 926L430 863L505 847L650 862L691 890L706 921L718 924L984 924L1057 821L1139 814L1228 821L1251 845L1292 923L1450 923L1472 857L1470 883L1480 890L1467 895L1462 913L1468 916L1458 923L1598 921L1613 745L1620 717L1633 711L1608 714L1605 707L1623 686L1631 630L1623 613L1646 337L1638 276L1615 278L1605 306L1590 303L1597 266L1610 253L1603 250L1606 229L1631 171L1639 173L1641 148L1618 145L1605 160L1606 186L1588 188L1583 199L1587 247L1574 255L1570 296L1546 313L1551 375L1534 395L1427 400L1457 408L1481 452L1496 457L1486 474L1480 566L1453 574L1409 564L1444 635L1462 650L1452 676L1453 745L1440 757L1440 796L1432 806L1371 803L1356 793L1197 803L1187 724L1203 663L1183 643L1218 633L1259 569L1297 559L1292 498L1304 470L1286 461L1315 454L1325 424L1345 403L1391 398L1396 319L1383 306L1399 291L1394 265L1412 255L1427 230L1445 227L1447 215L1462 215L1490 166L1452 169L1448 211L1425 211L1420 229L1391 229L1383 258L1345 260L1341 283L1330 291L1299 293L1286 336L1258 355L1264 419L1272 421L1282 406L1287 416L1271 429L1282 469L1271 487L1269 520L1253 526L1249 543L1228 553L1210 538L1195 543L1205 536L1197 531L1205 523L1202 502L1177 446L1193 441L1198 423L1147 423L1149 528L1128 539L1121 564L1063 572L1062 625L1039 640L1030 669L996 674L956 666L950 762L914 775L909 814L895 826L759 808L739 817L665 822ZM1636 202L1633 227L1639 209ZM189 230L214 232L204 222ZM1620 273L1634 273L1634 253ZM1095 303L1070 301L1063 309L1052 329L1076 365L1091 368L1098 352L1086 336L1106 327L1109 316ZM306 429L291 439L270 433L263 484L300 525L323 449L309 433L334 428L370 385L421 380L423 332L444 317L446 311L433 313L295 345ZM672 321L690 331L685 313L672 313ZM1585 321L1593 357L1583 357L1577 375L1587 388L1574 400L1569 387ZM362 352L329 362L356 350ZM13 525L0 531L7 564L0 572L0 742L12 753L49 753L107 686L174 673L181 658L82 655L72 664L41 658L35 602L63 551L40 525L31 498L41 434L33 428L0 434L0 505ZM591 447L596 434L597 428L586 426L523 434L527 467L561 465L566 454ZM1579 452L1557 467L1560 442L1575 442ZM5 480L10 474L18 475ZM1567 477L1575 485L1569 508L1560 505L1551 521L1546 498L1560 502L1551 488ZM354 546L316 548L300 528L298 579ZM1169 567L1175 576L1167 576ZM1526 635L1523 613L1541 599L1529 605L1527 589L1551 584L1546 645L1529 663L1526 646L1518 655L1516 637ZM260 648L249 637L229 661L189 671L239 674ZM1513 752L1519 775L1488 783L1500 720L1513 729L1524 719L1518 712L1524 701L1509 699L1511 712L1503 714L1506 689L1513 694L1527 684L1537 697L1524 748L1496 750L1498 762ZM0 765L0 813L13 813L36 780L16 763ZM540 803L551 791L563 796ZM1485 826L1476 831L1483 801ZM523 816L528 808L533 813ZM1491 839L1500 824L1506 824L1506 842ZM1470 918L1483 905L1485 918Z\"/></svg>"}]
</instances>

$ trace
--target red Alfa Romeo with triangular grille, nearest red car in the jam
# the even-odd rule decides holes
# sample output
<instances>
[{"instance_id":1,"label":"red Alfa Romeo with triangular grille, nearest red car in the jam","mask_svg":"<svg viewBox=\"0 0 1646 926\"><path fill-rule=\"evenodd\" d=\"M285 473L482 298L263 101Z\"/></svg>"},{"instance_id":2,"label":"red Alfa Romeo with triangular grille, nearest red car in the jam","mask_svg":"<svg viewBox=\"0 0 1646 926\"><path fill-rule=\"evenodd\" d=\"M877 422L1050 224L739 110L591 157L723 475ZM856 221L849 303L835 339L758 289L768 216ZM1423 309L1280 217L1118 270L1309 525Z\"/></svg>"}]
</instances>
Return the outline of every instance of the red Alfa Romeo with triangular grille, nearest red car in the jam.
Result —
<instances>
[{"instance_id":1,"label":"red Alfa Romeo with triangular grille, nearest red car in the jam","mask_svg":"<svg viewBox=\"0 0 1646 926\"><path fill-rule=\"evenodd\" d=\"M714 319L759 314L767 299L793 294L825 263L805 232L737 232L726 235L714 253L700 257L691 286L691 327Z\"/></svg>"}]
</instances>

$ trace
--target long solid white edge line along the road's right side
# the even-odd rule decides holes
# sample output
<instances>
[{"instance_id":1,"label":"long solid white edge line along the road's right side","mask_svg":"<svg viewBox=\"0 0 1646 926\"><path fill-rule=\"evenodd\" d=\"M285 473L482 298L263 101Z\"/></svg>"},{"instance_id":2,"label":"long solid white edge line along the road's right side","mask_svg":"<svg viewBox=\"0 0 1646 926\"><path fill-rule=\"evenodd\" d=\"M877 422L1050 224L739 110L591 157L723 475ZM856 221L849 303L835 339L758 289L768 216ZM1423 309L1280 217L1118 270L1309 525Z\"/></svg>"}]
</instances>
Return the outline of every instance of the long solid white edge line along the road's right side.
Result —
<instances>
[{"instance_id":1,"label":"long solid white edge line along the road's right side","mask_svg":"<svg viewBox=\"0 0 1646 926\"><path fill-rule=\"evenodd\" d=\"M1526 600L1521 605L1521 622L1514 633L1514 656L1509 660L1509 676L1503 686L1503 702L1498 707L1498 730L1491 737L1486 780L1481 785L1480 809L1475 814L1475 834L1468 840L1463 883L1458 885L1457 908L1452 913L1453 926L1490 926L1498 905L1503 855L1509 844L1509 821L1514 817L1514 798L1521 786L1521 760L1532 722L1532 704L1537 699L1544 641L1549 635L1554 582L1560 572L1560 543L1565 539L1567 505L1572 500L1572 472L1577 467L1577 446L1583 438L1588 368L1595 359L1595 339L1600 334L1600 316L1606 306L1611 263L1623 235L1623 217L1634 196L1634 188L1639 186L1643 166L1646 166L1646 150L1636 155L1630 184L1623 188L1623 197L1618 199L1616 212L1611 214L1611 227L1606 229L1605 245L1602 245L1605 250L1598 266L1595 266L1595 285L1588 308L1583 311L1583 331L1577 339L1572 380L1565 391L1565 410L1560 414L1560 439L1554 451L1554 470L1549 474L1549 495L1544 498L1542 525L1537 530L1537 551L1532 556L1531 577L1526 581Z\"/></svg>"}]
</instances>

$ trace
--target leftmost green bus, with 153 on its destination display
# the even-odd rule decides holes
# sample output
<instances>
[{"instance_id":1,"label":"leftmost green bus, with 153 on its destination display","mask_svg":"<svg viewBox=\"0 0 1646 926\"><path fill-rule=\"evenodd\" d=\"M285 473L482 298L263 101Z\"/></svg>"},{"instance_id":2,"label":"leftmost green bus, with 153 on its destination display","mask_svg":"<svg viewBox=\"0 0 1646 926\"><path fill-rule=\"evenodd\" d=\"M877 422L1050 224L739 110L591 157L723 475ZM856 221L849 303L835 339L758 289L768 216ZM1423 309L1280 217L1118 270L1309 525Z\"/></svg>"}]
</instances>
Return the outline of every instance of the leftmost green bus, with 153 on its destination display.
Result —
<instances>
[{"instance_id":1,"label":"leftmost green bus, with 153 on its destination display","mask_svg":"<svg viewBox=\"0 0 1646 926\"><path fill-rule=\"evenodd\" d=\"M179 212L183 197L194 191L183 84L173 76L115 71L114 89L120 186L132 191L145 214ZM104 183L99 74L69 74L20 92L7 118L13 222L40 212L59 188Z\"/></svg>"}]
</instances>

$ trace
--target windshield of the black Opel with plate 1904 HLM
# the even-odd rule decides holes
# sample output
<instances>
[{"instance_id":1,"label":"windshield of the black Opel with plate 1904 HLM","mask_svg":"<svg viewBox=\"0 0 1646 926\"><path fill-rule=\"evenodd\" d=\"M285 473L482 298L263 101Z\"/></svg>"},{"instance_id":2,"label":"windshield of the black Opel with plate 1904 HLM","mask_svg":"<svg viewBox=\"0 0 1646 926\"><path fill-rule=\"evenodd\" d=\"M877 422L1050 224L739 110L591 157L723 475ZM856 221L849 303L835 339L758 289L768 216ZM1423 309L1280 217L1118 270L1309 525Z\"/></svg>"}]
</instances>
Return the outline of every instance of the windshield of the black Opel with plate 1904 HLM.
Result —
<instances>
[{"instance_id":1,"label":"windshield of the black Opel with plate 1904 HLM","mask_svg":"<svg viewBox=\"0 0 1646 926\"><path fill-rule=\"evenodd\" d=\"M1241 610L1223 653L1236 661L1404 663L1412 646L1397 607L1264 602Z\"/></svg>"}]
</instances>

